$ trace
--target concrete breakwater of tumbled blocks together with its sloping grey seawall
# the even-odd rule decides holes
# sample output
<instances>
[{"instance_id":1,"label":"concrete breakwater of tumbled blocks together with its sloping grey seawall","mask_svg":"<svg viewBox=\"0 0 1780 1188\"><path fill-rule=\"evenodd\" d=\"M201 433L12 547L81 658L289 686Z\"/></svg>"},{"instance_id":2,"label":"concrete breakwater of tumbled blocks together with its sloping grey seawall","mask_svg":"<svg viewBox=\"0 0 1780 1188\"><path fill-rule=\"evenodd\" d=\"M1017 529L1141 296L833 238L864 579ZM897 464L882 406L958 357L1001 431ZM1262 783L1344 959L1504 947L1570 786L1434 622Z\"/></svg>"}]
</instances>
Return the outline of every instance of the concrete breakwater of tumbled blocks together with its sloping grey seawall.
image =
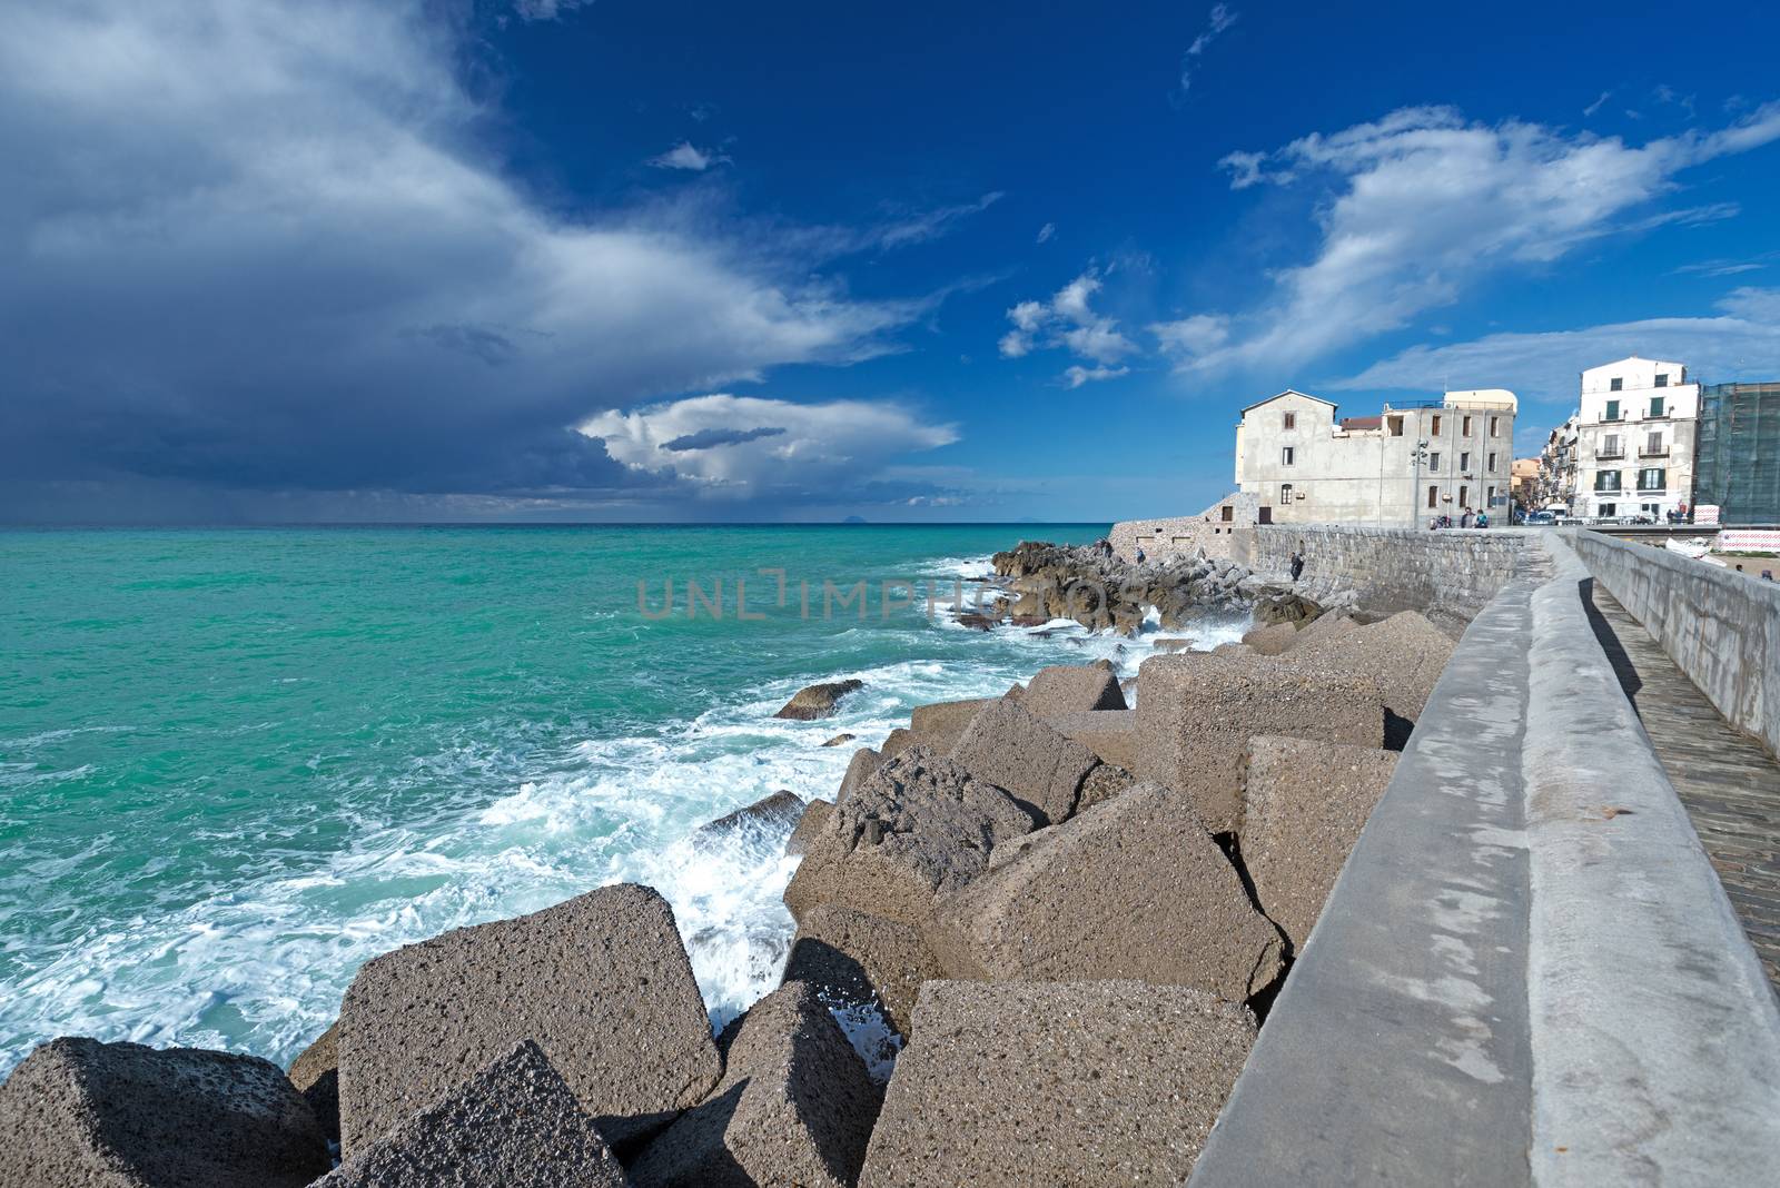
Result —
<instances>
[{"instance_id":1,"label":"concrete breakwater of tumbled blocks together with its sloping grey seawall","mask_svg":"<svg viewBox=\"0 0 1780 1188\"><path fill-rule=\"evenodd\" d=\"M310 1183L329 1108L335 1188L1757 1183L1780 1015L1661 768L1600 768L1648 742L1579 562L1518 548L1456 644L1246 573L1296 615L1146 660L1136 706L1045 669L724 818L803 861L783 985L716 1039L673 912L603 887L370 962L294 1080L46 1046L0 1186Z\"/></svg>"}]
</instances>

